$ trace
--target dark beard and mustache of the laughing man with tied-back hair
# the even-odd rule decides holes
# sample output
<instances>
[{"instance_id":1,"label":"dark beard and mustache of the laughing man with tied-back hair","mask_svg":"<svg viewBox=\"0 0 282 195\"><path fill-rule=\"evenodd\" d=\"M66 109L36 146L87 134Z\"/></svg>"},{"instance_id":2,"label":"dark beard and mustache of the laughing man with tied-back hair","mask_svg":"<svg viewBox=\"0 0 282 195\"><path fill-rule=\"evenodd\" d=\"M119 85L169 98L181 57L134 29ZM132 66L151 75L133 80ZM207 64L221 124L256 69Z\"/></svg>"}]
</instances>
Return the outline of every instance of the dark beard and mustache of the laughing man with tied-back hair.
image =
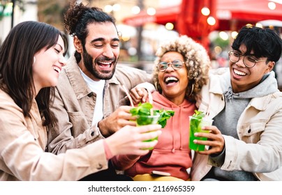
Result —
<instances>
[{"instance_id":1,"label":"dark beard and mustache of the laughing man with tied-back hair","mask_svg":"<svg viewBox=\"0 0 282 195\"><path fill-rule=\"evenodd\" d=\"M96 64L97 64L98 61L114 61L112 63L112 66L114 66L114 67L110 71L108 71L108 70L99 71L99 70L96 69ZM95 78L102 79L102 80L107 80L107 79L112 79L112 76L114 75L114 71L116 69L116 64L117 64L117 59L116 58L109 59L107 57L101 57L101 58L97 58L97 59L95 59L95 61L93 61L93 58L87 53L86 49L84 49L84 52L83 52L83 63L84 63L85 68Z\"/></svg>"}]
</instances>

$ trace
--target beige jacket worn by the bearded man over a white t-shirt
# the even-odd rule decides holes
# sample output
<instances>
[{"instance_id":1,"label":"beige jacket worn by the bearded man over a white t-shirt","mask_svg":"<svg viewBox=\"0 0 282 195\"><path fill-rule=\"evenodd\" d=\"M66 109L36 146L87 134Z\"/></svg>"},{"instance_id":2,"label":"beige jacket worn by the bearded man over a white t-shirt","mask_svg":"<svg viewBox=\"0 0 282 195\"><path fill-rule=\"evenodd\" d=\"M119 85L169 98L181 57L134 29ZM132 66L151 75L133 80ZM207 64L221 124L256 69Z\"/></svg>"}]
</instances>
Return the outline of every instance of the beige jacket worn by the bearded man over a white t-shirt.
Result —
<instances>
[{"instance_id":1,"label":"beige jacket worn by the bearded man over a white t-shirt","mask_svg":"<svg viewBox=\"0 0 282 195\"><path fill-rule=\"evenodd\" d=\"M109 116L121 105L128 105L122 85L129 90L145 81L151 81L151 75L144 70L117 65L112 79L105 81L103 117ZM56 89L52 111L57 118L57 125L48 131L48 151L65 153L68 149L103 139L97 125L91 127L96 94L84 81L74 56L68 59L61 71Z\"/></svg>"}]
</instances>

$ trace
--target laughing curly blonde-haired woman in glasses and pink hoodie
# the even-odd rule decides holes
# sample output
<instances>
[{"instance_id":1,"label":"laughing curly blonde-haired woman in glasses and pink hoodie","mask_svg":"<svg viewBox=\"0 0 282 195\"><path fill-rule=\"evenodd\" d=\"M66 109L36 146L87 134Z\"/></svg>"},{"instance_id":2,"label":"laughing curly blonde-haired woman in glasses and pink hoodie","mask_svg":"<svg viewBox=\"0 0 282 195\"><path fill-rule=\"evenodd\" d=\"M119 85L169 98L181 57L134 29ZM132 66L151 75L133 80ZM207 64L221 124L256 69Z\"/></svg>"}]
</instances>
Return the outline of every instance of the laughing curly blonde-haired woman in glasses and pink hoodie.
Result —
<instances>
[{"instance_id":1,"label":"laughing curly blonde-haired woman in glasses and pink hoodie","mask_svg":"<svg viewBox=\"0 0 282 195\"><path fill-rule=\"evenodd\" d=\"M195 98L207 84L209 56L202 45L187 36L180 36L161 45L156 57L154 109L170 109L175 115L168 120L150 153L119 155L114 164L134 180L189 180L192 159L188 147L188 116L193 115ZM151 175L152 171L169 173L170 176L157 177Z\"/></svg>"}]
</instances>

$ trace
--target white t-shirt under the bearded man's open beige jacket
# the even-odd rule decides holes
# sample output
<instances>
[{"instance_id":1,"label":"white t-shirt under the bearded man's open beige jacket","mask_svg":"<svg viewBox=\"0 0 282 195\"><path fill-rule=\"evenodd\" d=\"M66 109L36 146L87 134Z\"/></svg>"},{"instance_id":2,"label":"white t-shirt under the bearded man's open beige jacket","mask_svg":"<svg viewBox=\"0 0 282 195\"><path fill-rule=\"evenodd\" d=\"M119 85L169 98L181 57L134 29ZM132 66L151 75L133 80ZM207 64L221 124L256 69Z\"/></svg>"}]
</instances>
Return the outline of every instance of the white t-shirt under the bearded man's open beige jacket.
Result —
<instances>
[{"instance_id":1,"label":"white t-shirt under the bearded man's open beige jacket","mask_svg":"<svg viewBox=\"0 0 282 195\"><path fill-rule=\"evenodd\" d=\"M87 77L87 75L85 75L82 70L80 70L80 72L84 81L87 83L87 86L91 89L92 92L96 93L96 104L92 120L92 125L95 125L96 123L98 123L98 121L102 120L103 118L103 93L105 80L94 81Z\"/></svg>"}]
</instances>

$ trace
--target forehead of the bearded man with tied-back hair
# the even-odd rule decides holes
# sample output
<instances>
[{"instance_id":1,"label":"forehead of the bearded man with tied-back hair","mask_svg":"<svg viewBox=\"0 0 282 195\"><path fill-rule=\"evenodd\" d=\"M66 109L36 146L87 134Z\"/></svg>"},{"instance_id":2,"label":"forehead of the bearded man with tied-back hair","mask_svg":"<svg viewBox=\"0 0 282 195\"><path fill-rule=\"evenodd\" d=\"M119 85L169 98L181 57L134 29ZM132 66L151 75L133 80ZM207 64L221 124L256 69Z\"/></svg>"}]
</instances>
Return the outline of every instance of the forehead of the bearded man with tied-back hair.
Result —
<instances>
[{"instance_id":1,"label":"forehead of the bearded man with tied-back hair","mask_svg":"<svg viewBox=\"0 0 282 195\"><path fill-rule=\"evenodd\" d=\"M113 40L119 38L117 34L117 29L112 24L112 22L96 22L88 24L88 35L87 40L96 40L96 39L103 39L103 40Z\"/></svg>"}]
</instances>

